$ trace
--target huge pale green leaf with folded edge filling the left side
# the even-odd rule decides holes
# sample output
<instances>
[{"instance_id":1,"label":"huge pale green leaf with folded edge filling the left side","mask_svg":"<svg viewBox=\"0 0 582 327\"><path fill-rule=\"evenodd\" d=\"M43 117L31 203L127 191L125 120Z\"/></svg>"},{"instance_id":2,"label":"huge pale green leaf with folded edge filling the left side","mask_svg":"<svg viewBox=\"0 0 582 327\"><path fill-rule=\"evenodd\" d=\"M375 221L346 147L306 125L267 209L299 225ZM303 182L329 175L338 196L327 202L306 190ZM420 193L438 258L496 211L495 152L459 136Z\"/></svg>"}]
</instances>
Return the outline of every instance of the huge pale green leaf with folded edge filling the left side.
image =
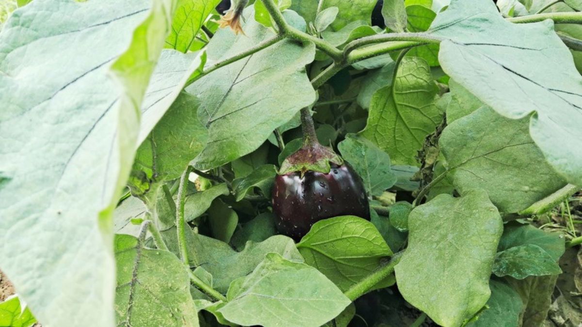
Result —
<instances>
[{"instance_id":1,"label":"huge pale green leaf with folded edge filling the left side","mask_svg":"<svg viewBox=\"0 0 582 327\"><path fill-rule=\"evenodd\" d=\"M0 34L0 262L43 324L113 325L111 214L172 7L38 0Z\"/></svg>"}]
</instances>

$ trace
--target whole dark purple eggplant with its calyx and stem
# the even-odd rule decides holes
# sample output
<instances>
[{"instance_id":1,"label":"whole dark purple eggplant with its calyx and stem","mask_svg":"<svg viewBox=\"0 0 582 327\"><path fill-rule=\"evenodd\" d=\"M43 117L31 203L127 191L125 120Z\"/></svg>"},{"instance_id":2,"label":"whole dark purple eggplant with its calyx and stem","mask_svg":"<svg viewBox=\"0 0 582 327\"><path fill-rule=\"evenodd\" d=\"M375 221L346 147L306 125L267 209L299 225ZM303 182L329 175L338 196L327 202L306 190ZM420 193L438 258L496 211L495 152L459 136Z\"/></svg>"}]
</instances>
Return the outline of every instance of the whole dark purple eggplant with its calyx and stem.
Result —
<instances>
[{"instance_id":1,"label":"whole dark purple eggplant with its calyx and stem","mask_svg":"<svg viewBox=\"0 0 582 327\"><path fill-rule=\"evenodd\" d=\"M309 115L307 113L307 115ZM302 125L311 125L313 120ZM272 190L275 225L281 234L299 241L314 223L354 215L370 220L368 197L360 176L331 148L304 127L303 147L283 161Z\"/></svg>"}]
</instances>

